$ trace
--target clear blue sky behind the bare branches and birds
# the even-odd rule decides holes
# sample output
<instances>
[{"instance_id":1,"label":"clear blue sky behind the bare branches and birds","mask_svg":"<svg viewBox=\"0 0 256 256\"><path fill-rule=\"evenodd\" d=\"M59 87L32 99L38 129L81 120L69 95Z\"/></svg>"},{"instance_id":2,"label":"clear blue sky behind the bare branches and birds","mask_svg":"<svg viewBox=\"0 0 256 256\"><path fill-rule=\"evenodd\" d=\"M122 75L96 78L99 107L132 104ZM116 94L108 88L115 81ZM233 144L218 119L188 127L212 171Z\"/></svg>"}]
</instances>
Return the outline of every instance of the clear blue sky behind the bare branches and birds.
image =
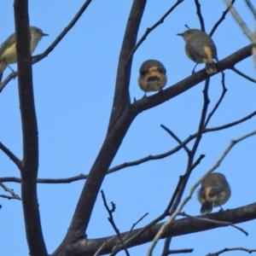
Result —
<instances>
[{"instance_id":1,"label":"clear blue sky behind the bare branches and birds","mask_svg":"<svg viewBox=\"0 0 256 256\"><path fill-rule=\"evenodd\" d=\"M149 0L138 38L141 38L146 28L154 25L175 2ZM236 8L253 30L253 15L244 1L236 2ZM79 0L30 2L31 25L49 33L49 37L43 38L38 44L34 54L43 52L55 40L73 19L82 3L84 1ZM0 8L2 43L15 31L15 25L12 1L2 0ZM201 0L207 32L211 31L225 8L221 0ZM55 50L33 66L40 152L38 177L73 177L90 171L108 127L119 49L130 9L131 1L127 0L92 1L81 19ZM148 35L147 40L137 50L131 73L131 99L140 99L143 96L143 91L137 86L138 69L143 61L157 59L166 66L166 87L190 75L194 62L184 53L183 38L176 35L186 29L185 24L190 28L200 28L194 1L181 3L163 24ZM226 16L212 38L218 48L219 60L250 43L231 15ZM12 67L16 69L16 65ZM196 70L203 67L199 65ZM237 67L255 77L252 57L241 61ZM4 77L9 72L7 69ZM256 85L230 70L225 71L225 74L228 91L209 127L241 119L252 113L256 107ZM131 125L112 166L137 160L148 154L161 154L175 147L177 143L160 128L160 124L169 127L181 139L195 133L201 116L203 85L204 83L197 84L182 95L141 113ZM209 109L218 101L221 90L221 75L216 74L211 79ZM17 79L11 81L0 94L0 109L0 141L21 158ZM206 154L206 157L193 172L184 195L187 195L195 181L212 167L232 139L253 131L255 127L256 119L253 118L228 130L205 134L196 155ZM189 146L191 145L190 143ZM217 170L224 173L232 189L230 201L224 208L241 207L255 201L255 145L256 137L250 137L237 144ZM180 150L164 160L126 168L106 177L102 189L108 202L113 201L117 206L114 219L120 232L130 230L131 225L145 212L149 215L137 228L148 224L165 209L178 177L185 172L186 165L187 154ZM3 152L0 152L0 170L1 177L20 177L18 169ZM18 183L5 184L20 195ZM66 235L83 185L84 181L70 184L38 184L44 239L49 253L53 253ZM0 194L4 193L1 189ZM0 204L3 206L0 211L1 255L28 255L21 202L0 198ZM198 215L199 209L200 204L194 194L183 211ZM89 238L114 234L107 218L102 197L98 196L87 233ZM255 248L255 221L239 226L247 230L249 236L232 227L219 228L174 237L172 249L194 248L193 255L206 255L224 247ZM154 255L160 255L162 246L163 241L160 241ZM133 247L129 251L131 255L145 255L147 249L148 244Z\"/></svg>"}]
</instances>

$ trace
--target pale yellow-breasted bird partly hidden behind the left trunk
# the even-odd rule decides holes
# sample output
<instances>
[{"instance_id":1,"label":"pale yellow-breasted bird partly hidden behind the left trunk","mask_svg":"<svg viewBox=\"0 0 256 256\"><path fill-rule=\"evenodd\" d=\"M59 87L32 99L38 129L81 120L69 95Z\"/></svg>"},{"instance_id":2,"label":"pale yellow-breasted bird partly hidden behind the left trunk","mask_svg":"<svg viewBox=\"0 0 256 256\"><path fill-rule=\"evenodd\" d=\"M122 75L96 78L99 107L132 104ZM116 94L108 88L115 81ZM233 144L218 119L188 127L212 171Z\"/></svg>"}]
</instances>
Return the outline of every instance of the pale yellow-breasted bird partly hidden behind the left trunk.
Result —
<instances>
[{"instance_id":1,"label":"pale yellow-breasted bird partly hidden behind the left trunk","mask_svg":"<svg viewBox=\"0 0 256 256\"><path fill-rule=\"evenodd\" d=\"M40 28L36 26L30 26L31 33L31 42L30 42L30 50L31 53L38 46L38 42L44 36L49 36L45 34ZM16 34L13 33L7 38L0 48L0 83L3 76L4 69L9 66L9 64L13 64L17 62L17 53L16 53Z\"/></svg>"}]
</instances>

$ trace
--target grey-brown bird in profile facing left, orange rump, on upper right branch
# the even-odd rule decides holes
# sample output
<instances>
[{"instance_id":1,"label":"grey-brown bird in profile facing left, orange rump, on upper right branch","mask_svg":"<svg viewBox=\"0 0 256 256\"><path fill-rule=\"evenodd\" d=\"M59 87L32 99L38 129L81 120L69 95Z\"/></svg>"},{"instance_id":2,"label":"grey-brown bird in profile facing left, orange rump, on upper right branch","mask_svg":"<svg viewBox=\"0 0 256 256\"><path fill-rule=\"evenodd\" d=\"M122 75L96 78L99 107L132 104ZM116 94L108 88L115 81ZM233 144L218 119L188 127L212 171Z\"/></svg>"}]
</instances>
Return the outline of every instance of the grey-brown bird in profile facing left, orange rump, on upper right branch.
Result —
<instances>
[{"instance_id":1,"label":"grey-brown bird in profile facing left, orange rump, on upper right branch","mask_svg":"<svg viewBox=\"0 0 256 256\"><path fill-rule=\"evenodd\" d=\"M213 61L213 59L218 61L217 49L212 38L206 32L199 29L189 29L177 35L184 38L186 42L185 50L189 59L196 63L206 63L208 74L217 72ZM194 70L195 68L193 72Z\"/></svg>"}]
</instances>

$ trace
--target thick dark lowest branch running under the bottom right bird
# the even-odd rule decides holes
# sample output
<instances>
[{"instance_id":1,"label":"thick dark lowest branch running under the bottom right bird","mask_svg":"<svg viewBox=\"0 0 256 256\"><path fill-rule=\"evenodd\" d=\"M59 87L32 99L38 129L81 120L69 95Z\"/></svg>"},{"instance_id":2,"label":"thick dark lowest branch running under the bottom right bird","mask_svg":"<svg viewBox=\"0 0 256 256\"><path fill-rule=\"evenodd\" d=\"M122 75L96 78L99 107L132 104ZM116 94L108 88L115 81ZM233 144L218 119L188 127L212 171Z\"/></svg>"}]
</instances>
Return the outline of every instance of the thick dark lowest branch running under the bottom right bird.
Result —
<instances>
[{"instance_id":1,"label":"thick dark lowest branch running under the bottom right bird","mask_svg":"<svg viewBox=\"0 0 256 256\"><path fill-rule=\"evenodd\" d=\"M224 212L215 212L210 213L208 216L201 215L200 218L211 218L218 221L227 221L232 224L239 224L245 221L249 221L256 218L256 203L253 203L248 206L238 207L236 209L229 209L229 211ZM127 247L135 247L142 243L146 243L148 241L152 241L154 236L159 232L163 224L155 224L150 227L147 232L144 232L139 239L131 241L129 237L135 236L140 230L133 230L128 237L128 240L125 241ZM166 238L169 236L183 236L188 235L195 232L200 232L204 230L211 230L219 228L219 224L212 222L203 222L201 219L196 218L179 218L173 220L172 224L169 224L161 238ZM122 233L121 236L126 236L126 232ZM99 247L102 246L104 241L109 241L113 236L102 237L100 239L84 239L77 243L79 248L79 255L90 255L93 254ZM114 237L114 239L103 248L102 254L110 253L115 244L119 241L118 237Z\"/></svg>"}]
</instances>

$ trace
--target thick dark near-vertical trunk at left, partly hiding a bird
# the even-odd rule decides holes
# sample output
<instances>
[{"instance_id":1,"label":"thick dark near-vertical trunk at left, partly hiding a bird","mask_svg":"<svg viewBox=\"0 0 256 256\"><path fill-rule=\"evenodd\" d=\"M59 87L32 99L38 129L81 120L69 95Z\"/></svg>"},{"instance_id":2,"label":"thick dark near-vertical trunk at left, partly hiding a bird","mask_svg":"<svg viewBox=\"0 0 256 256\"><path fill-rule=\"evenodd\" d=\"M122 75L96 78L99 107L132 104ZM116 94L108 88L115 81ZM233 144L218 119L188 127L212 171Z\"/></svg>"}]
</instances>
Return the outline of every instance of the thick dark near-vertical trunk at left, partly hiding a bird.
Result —
<instances>
[{"instance_id":1,"label":"thick dark near-vertical trunk at left, partly hiding a bird","mask_svg":"<svg viewBox=\"0 0 256 256\"><path fill-rule=\"evenodd\" d=\"M38 209L38 124L33 96L28 1L15 0L15 32L23 138L21 198L30 255L47 256Z\"/></svg>"}]
</instances>

